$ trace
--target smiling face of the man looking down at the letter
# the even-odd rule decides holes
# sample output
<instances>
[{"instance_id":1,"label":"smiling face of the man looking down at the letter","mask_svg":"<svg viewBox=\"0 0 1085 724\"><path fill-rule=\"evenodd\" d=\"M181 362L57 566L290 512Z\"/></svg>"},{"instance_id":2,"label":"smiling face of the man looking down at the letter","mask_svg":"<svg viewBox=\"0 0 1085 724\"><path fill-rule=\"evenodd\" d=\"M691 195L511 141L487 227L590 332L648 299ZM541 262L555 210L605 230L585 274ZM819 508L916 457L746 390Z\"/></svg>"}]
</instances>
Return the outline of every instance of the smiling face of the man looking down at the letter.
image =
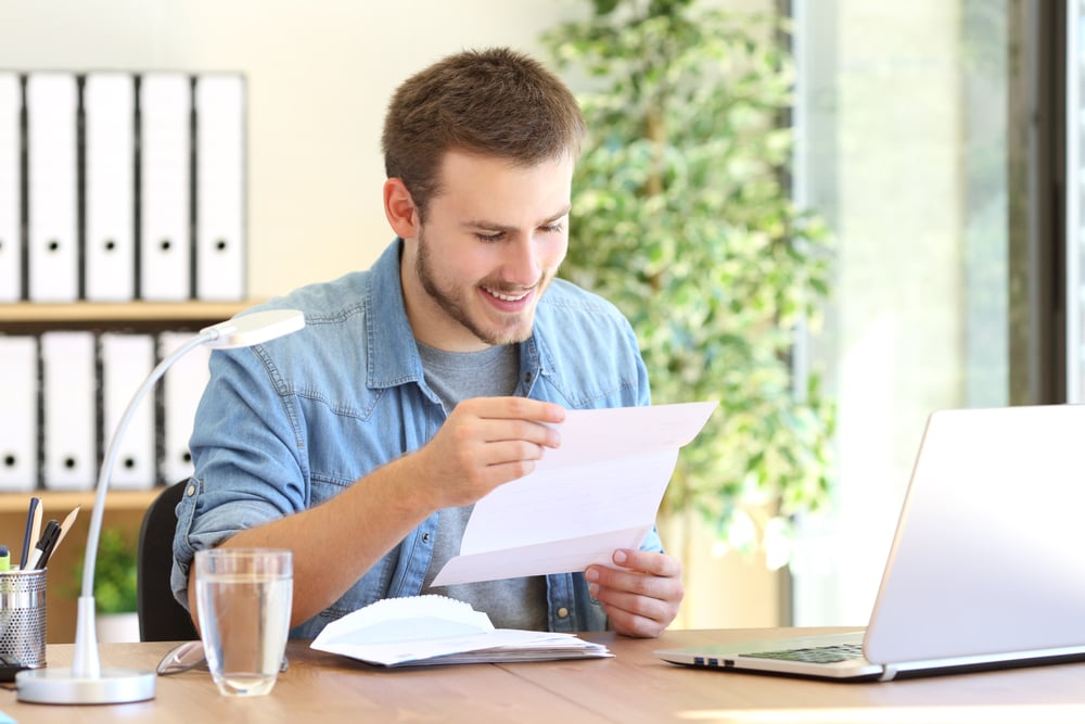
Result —
<instances>
[{"instance_id":1,"label":"smiling face of the man looking down at the letter","mask_svg":"<svg viewBox=\"0 0 1085 724\"><path fill-rule=\"evenodd\" d=\"M449 352L522 342L569 246L573 161L449 152L403 265L414 335Z\"/></svg>"}]
</instances>

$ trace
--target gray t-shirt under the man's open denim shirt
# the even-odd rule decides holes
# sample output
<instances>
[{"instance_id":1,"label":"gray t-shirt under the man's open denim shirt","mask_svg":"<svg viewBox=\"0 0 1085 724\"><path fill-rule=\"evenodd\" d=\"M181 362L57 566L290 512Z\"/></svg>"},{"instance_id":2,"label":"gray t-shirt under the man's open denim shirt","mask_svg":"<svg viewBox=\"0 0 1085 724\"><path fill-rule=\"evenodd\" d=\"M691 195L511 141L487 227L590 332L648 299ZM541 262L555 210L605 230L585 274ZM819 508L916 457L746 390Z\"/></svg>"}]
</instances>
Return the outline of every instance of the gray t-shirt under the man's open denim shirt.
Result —
<instances>
[{"instance_id":1,"label":"gray t-shirt under the man's open denim shirt","mask_svg":"<svg viewBox=\"0 0 1085 724\"><path fill-rule=\"evenodd\" d=\"M500 345L482 352L444 352L418 343L425 370L425 381L450 412L461 399L511 395L520 377L520 351L516 345ZM451 586L431 584L442 567L460 552L460 541L471 509L446 508L441 511L433 559L422 583L423 594L439 594L471 604L485 611L498 628L546 631L549 627L546 606L546 579L541 575L484 581Z\"/></svg>"}]
</instances>

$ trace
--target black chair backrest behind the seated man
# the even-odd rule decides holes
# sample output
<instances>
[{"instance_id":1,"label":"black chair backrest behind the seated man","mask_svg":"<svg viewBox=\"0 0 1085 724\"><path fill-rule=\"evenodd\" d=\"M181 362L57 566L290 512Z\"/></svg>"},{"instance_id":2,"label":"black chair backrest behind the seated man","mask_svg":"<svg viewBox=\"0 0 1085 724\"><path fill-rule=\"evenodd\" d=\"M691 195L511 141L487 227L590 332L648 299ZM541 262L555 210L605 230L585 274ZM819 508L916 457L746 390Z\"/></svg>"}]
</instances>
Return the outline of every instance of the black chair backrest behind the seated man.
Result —
<instances>
[{"instance_id":1,"label":"black chair backrest behind the seated man","mask_svg":"<svg viewBox=\"0 0 1085 724\"><path fill-rule=\"evenodd\" d=\"M141 642L184 642L199 638L189 612L177 602L169 586L174 566L175 509L188 480L158 494L143 513L139 531L136 598Z\"/></svg>"}]
</instances>

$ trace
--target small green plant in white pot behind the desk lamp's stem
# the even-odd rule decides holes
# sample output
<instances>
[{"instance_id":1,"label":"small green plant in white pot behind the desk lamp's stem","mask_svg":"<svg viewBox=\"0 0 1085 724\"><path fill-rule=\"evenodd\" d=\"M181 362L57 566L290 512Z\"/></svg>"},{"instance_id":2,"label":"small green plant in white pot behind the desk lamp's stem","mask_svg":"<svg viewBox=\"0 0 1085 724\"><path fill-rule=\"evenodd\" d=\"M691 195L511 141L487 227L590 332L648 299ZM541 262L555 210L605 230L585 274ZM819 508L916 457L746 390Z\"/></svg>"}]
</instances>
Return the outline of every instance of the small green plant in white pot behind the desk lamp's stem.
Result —
<instances>
[{"instance_id":1,"label":"small green plant in white pot behind the desk lamp's stem","mask_svg":"<svg viewBox=\"0 0 1085 724\"><path fill-rule=\"evenodd\" d=\"M79 595L84 560L80 554L73 568L73 589ZM137 549L120 526L103 528L94 562L94 610L98 638L139 640L136 577Z\"/></svg>"}]
</instances>

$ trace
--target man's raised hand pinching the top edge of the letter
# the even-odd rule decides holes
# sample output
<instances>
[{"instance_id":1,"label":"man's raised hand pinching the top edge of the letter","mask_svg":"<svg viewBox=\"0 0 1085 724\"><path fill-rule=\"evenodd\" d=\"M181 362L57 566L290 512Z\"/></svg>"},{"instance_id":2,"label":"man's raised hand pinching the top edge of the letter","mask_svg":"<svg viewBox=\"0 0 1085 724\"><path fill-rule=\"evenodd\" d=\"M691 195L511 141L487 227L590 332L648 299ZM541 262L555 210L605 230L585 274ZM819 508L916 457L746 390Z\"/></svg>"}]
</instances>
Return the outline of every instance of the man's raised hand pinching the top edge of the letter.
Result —
<instances>
[{"instance_id":1,"label":"man's raised hand pinching the top edge of the letter","mask_svg":"<svg viewBox=\"0 0 1085 724\"><path fill-rule=\"evenodd\" d=\"M461 402L417 454L425 475L438 483L434 507L470 505L532 472L547 447L561 444L549 424L564 419L560 405L527 397Z\"/></svg>"}]
</instances>

